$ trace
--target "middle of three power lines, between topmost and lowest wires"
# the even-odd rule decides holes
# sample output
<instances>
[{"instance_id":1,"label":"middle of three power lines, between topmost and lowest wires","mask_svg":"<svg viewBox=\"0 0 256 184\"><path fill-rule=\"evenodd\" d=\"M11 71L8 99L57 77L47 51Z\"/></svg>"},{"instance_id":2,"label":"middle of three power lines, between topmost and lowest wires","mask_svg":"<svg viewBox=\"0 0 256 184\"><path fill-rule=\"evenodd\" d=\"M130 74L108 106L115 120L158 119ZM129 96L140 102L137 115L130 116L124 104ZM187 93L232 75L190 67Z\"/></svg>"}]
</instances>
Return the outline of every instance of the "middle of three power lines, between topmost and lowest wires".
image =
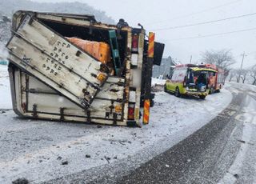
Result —
<instances>
[{"instance_id":1,"label":"middle of three power lines, between topmost and lowest wires","mask_svg":"<svg viewBox=\"0 0 256 184\"><path fill-rule=\"evenodd\" d=\"M198 26L198 25L210 24L210 23L214 23L214 22L222 22L222 21L227 21L227 20L231 20L234 18L244 18L244 17L248 17L248 16L253 16L253 15L256 15L256 12L251 13L251 14L242 14L242 15L238 15L238 16L234 16L234 17L230 17L230 18L221 18L221 19L217 19L217 20L213 20L213 21L198 22L198 23L186 24L186 25L182 25L182 26L171 26L171 27L166 27L166 28L159 28L156 30L174 30L174 29L183 28L183 27Z\"/></svg>"}]
</instances>

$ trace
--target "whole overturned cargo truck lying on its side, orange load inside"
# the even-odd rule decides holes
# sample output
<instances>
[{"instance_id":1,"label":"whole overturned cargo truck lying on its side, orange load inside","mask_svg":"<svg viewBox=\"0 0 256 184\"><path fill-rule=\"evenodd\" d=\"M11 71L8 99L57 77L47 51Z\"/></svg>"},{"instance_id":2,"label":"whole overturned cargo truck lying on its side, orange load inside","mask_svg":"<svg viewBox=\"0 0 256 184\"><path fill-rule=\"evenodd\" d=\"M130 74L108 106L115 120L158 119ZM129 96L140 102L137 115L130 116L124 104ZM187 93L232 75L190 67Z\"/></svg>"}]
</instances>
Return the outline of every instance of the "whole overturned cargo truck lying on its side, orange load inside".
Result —
<instances>
[{"instance_id":1,"label":"whole overturned cargo truck lying on its side, orange load inside","mask_svg":"<svg viewBox=\"0 0 256 184\"><path fill-rule=\"evenodd\" d=\"M21 117L141 126L164 44L92 15L19 10L6 47L14 112ZM149 49L148 49L149 48ZM144 109L140 108L145 103Z\"/></svg>"}]
</instances>

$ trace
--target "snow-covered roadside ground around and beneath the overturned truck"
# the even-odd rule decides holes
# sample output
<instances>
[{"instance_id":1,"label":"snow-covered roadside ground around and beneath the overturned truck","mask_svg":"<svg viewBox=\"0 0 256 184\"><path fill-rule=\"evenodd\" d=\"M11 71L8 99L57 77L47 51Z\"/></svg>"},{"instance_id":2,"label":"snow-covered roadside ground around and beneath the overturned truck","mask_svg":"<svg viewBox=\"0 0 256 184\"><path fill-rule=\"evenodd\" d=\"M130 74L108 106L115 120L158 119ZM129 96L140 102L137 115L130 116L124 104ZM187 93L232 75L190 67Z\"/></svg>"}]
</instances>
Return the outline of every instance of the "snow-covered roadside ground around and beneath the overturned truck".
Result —
<instances>
[{"instance_id":1,"label":"snow-covered roadside ground around and beneath the overturned truck","mask_svg":"<svg viewBox=\"0 0 256 184\"><path fill-rule=\"evenodd\" d=\"M0 73L0 110L11 107L5 70ZM225 89L206 100L158 92L150 124L142 128L35 121L1 110L0 183L22 177L42 182L136 155L146 162L206 125L231 99Z\"/></svg>"}]
</instances>

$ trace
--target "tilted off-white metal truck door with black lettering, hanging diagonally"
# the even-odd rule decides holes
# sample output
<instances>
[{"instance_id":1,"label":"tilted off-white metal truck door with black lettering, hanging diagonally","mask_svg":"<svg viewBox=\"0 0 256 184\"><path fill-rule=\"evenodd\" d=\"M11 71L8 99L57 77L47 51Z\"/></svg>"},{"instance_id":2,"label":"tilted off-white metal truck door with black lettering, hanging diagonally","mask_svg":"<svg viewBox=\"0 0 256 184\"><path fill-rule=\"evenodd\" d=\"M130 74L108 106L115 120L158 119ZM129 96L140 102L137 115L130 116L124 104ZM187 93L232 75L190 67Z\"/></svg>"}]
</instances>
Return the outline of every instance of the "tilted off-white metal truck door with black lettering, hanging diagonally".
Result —
<instances>
[{"instance_id":1,"label":"tilted off-white metal truck door with black lettering, hanging diagonally","mask_svg":"<svg viewBox=\"0 0 256 184\"><path fill-rule=\"evenodd\" d=\"M10 62L82 108L90 106L107 78L100 62L28 15L7 48Z\"/></svg>"}]
</instances>

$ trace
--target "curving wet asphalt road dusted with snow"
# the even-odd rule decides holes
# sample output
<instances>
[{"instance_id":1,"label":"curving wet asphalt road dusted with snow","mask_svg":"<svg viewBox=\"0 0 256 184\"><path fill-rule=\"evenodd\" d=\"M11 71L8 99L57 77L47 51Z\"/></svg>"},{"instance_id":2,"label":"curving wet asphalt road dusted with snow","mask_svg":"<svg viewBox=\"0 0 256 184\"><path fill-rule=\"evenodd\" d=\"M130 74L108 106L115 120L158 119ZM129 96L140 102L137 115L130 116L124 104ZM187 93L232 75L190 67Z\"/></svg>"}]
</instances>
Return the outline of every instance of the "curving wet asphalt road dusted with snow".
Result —
<instances>
[{"instance_id":1,"label":"curving wet asphalt road dusted with snow","mask_svg":"<svg viewBox=\"0 0 256 184\"><path fill-rule=\"evenodd\" d=\"M116 169L114 166L94 168L50 183L254 183L256 135L244 141L243 131L248 125L256 131L256 123L249 124L241 114L245 114L245 106L256 100L256 96L236 90L239 92L233 93L232 102L221 114L150 161L139 164L134 158L128 158L128 163L116 165L118 171L112 171ZM256 103L253 106L250 107L252 114L256 114ZM234 161L245 145L250 149L244 150L245 159L238 169ZM134 169L126 170L126 164L133 165Z\"/></svg>"}]
</instances>

